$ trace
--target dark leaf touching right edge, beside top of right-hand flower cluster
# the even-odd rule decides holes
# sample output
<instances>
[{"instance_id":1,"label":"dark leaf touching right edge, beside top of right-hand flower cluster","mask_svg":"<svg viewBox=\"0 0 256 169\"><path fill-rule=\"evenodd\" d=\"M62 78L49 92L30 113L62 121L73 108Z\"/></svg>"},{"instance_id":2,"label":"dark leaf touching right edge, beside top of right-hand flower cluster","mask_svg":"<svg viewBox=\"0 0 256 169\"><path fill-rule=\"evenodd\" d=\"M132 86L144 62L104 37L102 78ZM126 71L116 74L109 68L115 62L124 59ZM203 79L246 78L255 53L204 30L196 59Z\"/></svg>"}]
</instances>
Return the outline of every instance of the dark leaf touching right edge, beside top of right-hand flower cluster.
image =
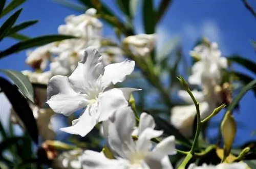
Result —
<instances>
[{"instance_id":1,"label":"dark leaf touching right edge, beside top of right-hand flower cluster","mask_svg":"<svg viewBox=\"0 0 256 169\"><path fill-rule=\"evenodd\" d=\"M240 57L239 55L232 55L227 58L231 63L237 63L246 69L256 73L256 64L253 61Z\"/></svg>"}]
</instances>

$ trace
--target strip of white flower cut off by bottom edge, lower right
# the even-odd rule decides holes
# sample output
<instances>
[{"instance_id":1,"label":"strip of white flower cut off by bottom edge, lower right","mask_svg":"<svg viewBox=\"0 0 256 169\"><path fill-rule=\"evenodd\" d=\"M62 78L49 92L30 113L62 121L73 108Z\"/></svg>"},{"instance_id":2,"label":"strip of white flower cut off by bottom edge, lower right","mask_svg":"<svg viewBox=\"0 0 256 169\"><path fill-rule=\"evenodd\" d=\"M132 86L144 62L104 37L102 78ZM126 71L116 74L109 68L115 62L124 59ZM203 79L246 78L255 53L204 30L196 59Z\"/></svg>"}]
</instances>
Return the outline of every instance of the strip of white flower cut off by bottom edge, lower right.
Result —
<instances>
[{"instance_id":1,"label":"strip of white flower cut off by bottom edge, lower right","mask_svg":"<svg viewBox=\"0 0 256 169\"><path fill-rule=\"evenodd\" d=\"M221 163L218 165L207 165L197 166L196 164L190 164L188 169L246 169L248 168L246 163L234 162L234 163Z\"/></svg>"}]
</instances>

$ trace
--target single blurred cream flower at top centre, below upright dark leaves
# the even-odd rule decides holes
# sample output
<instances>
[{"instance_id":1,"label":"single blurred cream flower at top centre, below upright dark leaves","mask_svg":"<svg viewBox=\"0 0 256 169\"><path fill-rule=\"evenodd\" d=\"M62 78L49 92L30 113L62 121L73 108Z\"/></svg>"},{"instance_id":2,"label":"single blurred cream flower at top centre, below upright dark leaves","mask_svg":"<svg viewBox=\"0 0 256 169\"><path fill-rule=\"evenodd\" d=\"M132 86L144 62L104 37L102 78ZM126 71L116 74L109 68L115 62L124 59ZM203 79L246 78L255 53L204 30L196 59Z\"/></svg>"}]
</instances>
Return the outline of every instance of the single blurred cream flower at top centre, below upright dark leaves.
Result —
<instances>
[{"instance_id":1,"label":"single blurred cream flower at top centre, below upright dark leaves","mask_svg":"<svg viewBox=\"0 0 256 169\"><path fill-rule=\"evenodd\" d=\"M123 43L129 45L134 55L145 57L150 54L155 47L155 35L139 34L129 36L123 40Z\"/></svg>"}]
</instances>

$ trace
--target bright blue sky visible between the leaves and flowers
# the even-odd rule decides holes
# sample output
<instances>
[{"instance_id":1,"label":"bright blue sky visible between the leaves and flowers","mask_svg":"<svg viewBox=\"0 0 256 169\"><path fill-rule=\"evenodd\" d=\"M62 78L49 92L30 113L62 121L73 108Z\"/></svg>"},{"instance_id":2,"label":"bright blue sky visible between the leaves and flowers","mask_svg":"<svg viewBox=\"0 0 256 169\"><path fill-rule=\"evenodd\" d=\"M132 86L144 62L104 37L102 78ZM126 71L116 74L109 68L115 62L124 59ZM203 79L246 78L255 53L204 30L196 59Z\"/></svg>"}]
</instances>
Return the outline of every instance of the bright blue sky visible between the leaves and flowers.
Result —
<instances>
[{"instance_id":1,"label":"bright blue sky visible between the leaves and flowers","mask_svg":"<svg viewBox=\"0 0 256 169\"><path fill-rule=\"evenodd\" d=\"M17 23L34 19L38 19L39 22L23 31L23 33L31 37L56 34L58 25L64 23L66 16L79 14L79 12L61 7L56 1L28 0L24 3L22 5L24 10ZM75 1L70 0L70 2ZM104 1L115 13L120 14L114 2L114 0ZM158 2L158 0L155 1L156 4ZM248 2L256 9L255 1ZM140 9L137 13L134 21L136 32L143 33ZM3 19L0 20L0 23L3 23ZM238 53L242 57L256 61L256 54L249 43L250 39L256 40L256 20L240 0L174 1L172 7L169 8L158 25L157 32L159 35L158 48L161 48L164 42L170 38L180 36L183 52L187 55L187 58L189 58L188 52L193 48L195 41L201 36L206 36L209 40L216 41L219 44L223 55ZM113 30L111 27L105 26L103 34L107 37L113 37ZM15 40L6 38L1 42L0 50L9 47L13 43L15 43ZM25 51L10 55L0 60L0 68L29 69L24 62L25 59ZM241 72L250 73L239 66L235 68ZM256 110L255 101L252 92L248 92L241 101L239 113L234 114L235 118L244 125L243 128L238 130L236 143L256 138L250 137L250 132L256 129L254 122L256 118L256 112L254 112ZM217 116L214 121L218 121L221 117L221 115ZM216 130L209 130L209 136L215 134Z\"/></svg>"}]
</instances>

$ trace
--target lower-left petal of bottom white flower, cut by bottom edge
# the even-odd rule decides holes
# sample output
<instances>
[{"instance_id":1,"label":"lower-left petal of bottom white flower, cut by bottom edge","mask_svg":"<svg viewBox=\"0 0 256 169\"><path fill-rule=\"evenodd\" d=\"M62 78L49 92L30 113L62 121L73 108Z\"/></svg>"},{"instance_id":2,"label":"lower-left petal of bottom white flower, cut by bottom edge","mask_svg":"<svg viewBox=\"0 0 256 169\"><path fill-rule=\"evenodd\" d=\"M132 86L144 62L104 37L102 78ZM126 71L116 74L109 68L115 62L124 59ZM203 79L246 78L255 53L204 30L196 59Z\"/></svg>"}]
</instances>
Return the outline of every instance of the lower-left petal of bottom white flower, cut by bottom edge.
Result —
<instances>
[{"instance_id":1,"label":"lower-left petal of bottom white flower, cut by bottom edge","mask_svg":"<svg viewBox=\"0 0 256 169\"><path fill-rule=\"evenodd\" d=\"M116 159L109 159L103 153L86 150L82 155L82 166L84 169L125 169L125 164Z\"/></svg>"}]
</instances>

